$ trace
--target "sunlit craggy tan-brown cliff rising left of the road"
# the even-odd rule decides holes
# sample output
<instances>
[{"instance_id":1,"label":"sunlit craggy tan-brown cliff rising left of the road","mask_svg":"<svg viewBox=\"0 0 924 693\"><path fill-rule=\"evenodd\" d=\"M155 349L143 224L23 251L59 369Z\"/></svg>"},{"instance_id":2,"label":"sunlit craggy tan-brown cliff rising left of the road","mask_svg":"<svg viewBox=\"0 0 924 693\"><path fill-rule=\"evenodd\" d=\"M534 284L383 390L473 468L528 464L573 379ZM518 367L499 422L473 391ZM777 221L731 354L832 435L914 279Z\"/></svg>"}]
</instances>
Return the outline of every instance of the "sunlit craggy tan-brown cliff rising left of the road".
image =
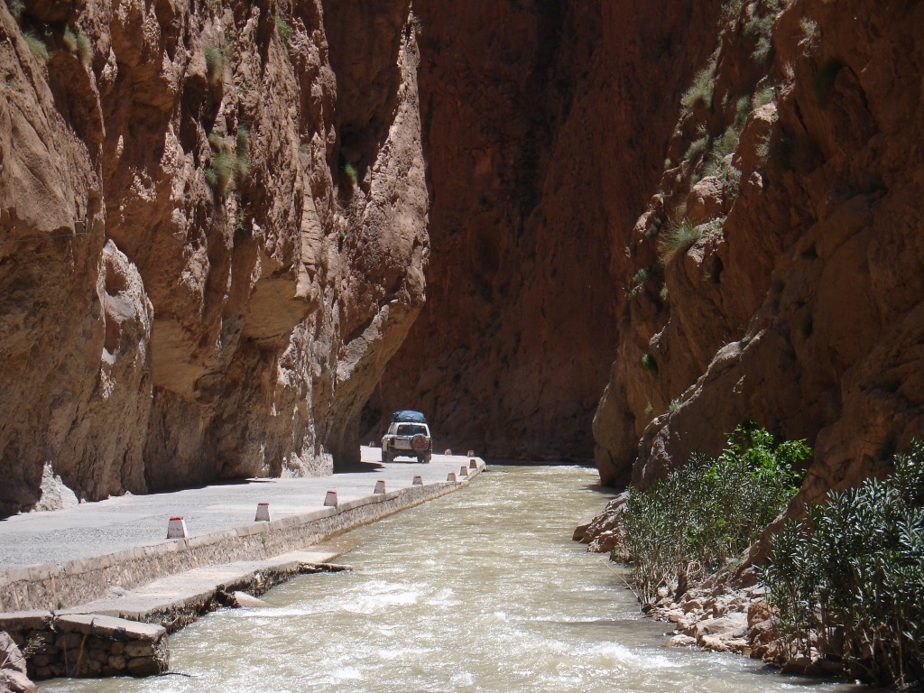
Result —
<instances>
[{"instance_id":1,"label":"sunlit craggy tan-brown cliff rising left of the road","mask_svg":"<svg viewBox=\"0 0 924 693\"><path fill-rule=\"evenodd\" d=\"M0 7L0 515L359 455L429 253L408 17Z\"/></svg>"}]
</instances>

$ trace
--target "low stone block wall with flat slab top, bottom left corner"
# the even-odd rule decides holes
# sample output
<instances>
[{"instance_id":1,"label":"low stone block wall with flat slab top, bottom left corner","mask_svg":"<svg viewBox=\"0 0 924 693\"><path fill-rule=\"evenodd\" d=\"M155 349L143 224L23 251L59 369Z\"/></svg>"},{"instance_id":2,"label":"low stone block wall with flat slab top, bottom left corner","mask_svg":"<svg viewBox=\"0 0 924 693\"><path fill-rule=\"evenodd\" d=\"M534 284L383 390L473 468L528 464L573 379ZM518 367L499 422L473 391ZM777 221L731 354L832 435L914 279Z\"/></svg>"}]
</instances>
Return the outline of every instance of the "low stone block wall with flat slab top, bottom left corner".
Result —
<instances>
[{"instance_id":1,"label":"low stone block wall with flat slab top, bottom left corner","mask_svg":"<svg viewBox=\"0 0 924 693\"><path fill-rule=\"evenodd\" d=\"M32 679L70 676L146 676L167 670L162 626L93 614L47 611L0 614L6 631L27 658Z\"/></svg>"}]
</instances>

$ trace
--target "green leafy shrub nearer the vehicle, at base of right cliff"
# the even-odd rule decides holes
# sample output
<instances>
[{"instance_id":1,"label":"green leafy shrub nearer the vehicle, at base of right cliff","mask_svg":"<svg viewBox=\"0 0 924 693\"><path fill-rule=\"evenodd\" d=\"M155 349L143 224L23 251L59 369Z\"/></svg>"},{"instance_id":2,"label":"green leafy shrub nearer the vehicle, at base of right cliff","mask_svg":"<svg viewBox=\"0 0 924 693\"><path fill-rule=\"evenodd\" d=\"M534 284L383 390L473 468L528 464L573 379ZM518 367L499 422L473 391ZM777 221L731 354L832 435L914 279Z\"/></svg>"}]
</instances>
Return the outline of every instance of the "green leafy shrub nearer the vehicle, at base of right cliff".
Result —
<instances>
[{"instance_id":1,"label":"green leafy shrub nearer the vehicle, at base of right cliff","mask_svg":"<svg viewBox=\"0 0 924 693\"><path fill-rule=\"evenodd\" d=\"M683 576L699 578L750 546L784 509L811 455L803 441L777 441L747 421L715 459L694 454L644 491L622 517L624 549L643 602Z\"/></svg>"}]
</instances>

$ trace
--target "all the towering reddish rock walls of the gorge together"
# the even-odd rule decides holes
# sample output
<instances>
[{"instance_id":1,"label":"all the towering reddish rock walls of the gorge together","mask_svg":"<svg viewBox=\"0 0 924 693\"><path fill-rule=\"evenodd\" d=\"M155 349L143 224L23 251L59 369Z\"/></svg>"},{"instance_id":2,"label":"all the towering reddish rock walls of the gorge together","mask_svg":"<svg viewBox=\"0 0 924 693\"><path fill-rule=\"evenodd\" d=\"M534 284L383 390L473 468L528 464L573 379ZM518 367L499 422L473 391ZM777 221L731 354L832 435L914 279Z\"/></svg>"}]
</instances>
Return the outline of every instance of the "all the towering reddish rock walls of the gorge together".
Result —
<instances>
[{"instance_id":1,"label":"all the towering reddish rock walls of the gorge together","mask_svg":"<svg viewBox=\"0 0 924 693\"><path fill-rule=\"evenodd\" d=\"M811 448L797 515L924 430L915 0L4 0L0 39L0 517L330 474L405 407L620 489L751 419Z\"/></svg>"}]
</instances>

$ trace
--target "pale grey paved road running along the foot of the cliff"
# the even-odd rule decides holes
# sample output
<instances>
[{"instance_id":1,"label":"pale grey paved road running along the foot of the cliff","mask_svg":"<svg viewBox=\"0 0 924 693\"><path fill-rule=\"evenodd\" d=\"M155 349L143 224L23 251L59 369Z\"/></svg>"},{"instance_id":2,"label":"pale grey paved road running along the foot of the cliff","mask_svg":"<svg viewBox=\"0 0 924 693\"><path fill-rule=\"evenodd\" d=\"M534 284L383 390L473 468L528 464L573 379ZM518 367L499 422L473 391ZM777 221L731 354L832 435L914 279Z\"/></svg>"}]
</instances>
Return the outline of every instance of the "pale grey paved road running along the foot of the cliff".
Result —
<instances>
[{"instance_id":1,"label":"pale grey paved road running along the foot of the cliff","mask_svg":"<svg viewBox=\"0 0 924 693\"><path fill-rule=\"evenodd\" d=\"M377 480L387 491L445 481L468 465L468 457L434 455L420 465L410 459L383 464L379 448L363 447L357 470L311 479L221 484L151 495L128 495L67 510L28 513L0 521L0 570L61 564L156 543L166 537L167 520L186 518L190 537L232 529L253 521L258 503L269 503L273 519L321 508L328 489L339 501L370 495Z\"/></svg>"}]
</instances>

